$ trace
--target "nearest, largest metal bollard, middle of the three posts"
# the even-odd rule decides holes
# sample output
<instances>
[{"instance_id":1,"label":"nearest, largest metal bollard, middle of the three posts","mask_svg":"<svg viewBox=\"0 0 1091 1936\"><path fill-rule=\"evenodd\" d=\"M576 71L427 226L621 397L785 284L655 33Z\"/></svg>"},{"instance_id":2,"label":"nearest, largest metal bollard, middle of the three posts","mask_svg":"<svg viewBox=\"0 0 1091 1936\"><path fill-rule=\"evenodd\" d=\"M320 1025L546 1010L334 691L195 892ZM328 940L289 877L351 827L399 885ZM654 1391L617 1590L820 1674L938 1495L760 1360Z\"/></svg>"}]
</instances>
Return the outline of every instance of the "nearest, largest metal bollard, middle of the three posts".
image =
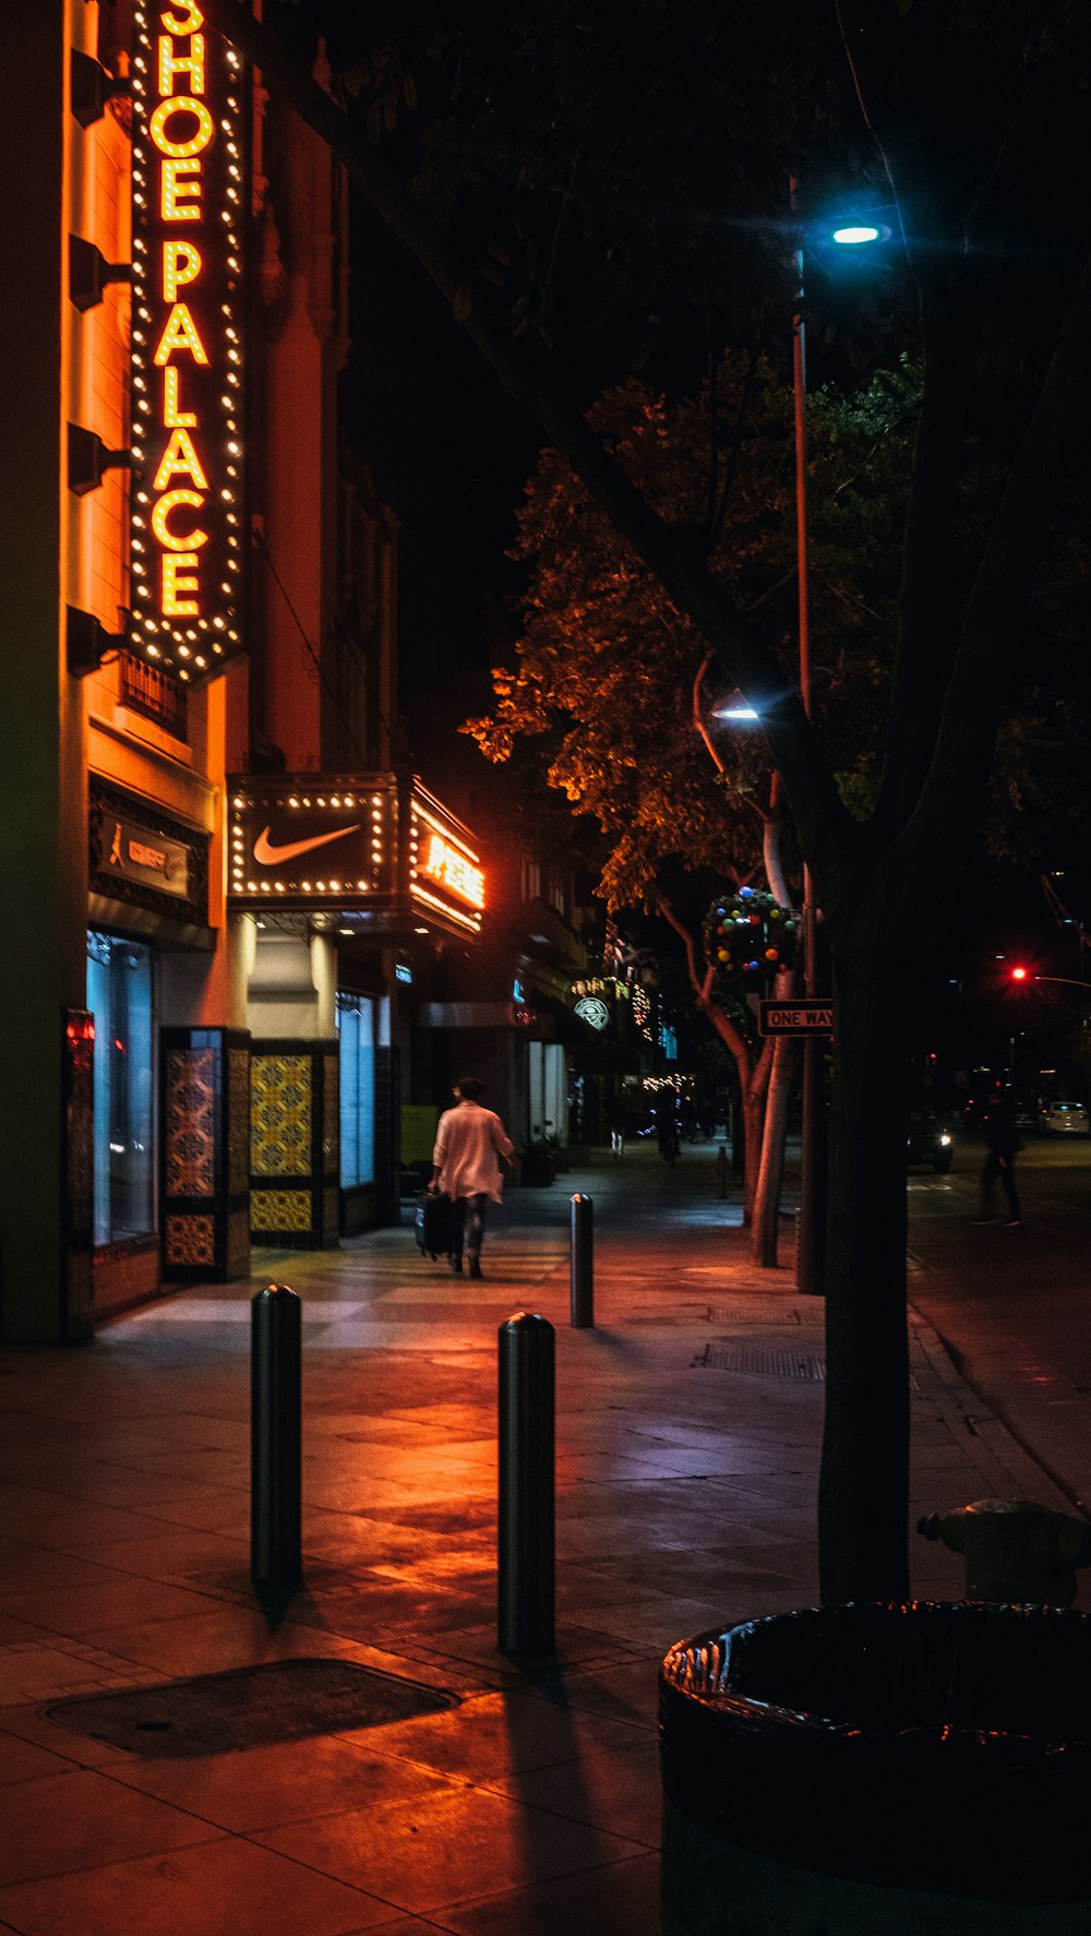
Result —
<instances>
[{"instance_id":1,"label":"nearest, largest metal bollard, middle of the three posts","mask_svg":"<svg viewBox=\"0 0 1091 1936\"><path fill-rule=\"evenodd\" d=\"M499 1328L497 1648L553 1653L553 1326Z\"/></svg>"}]
</instances>

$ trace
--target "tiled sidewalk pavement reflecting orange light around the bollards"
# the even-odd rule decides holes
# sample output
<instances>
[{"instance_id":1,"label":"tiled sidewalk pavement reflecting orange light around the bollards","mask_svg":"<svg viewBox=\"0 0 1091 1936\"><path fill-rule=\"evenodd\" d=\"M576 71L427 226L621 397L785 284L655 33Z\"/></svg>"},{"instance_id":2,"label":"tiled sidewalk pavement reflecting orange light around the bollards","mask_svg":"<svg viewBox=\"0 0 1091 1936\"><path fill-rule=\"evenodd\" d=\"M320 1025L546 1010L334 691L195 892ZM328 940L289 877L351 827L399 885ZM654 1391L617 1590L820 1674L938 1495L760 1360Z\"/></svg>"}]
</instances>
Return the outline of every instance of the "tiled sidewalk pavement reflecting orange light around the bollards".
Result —
<instances>
[{"instance_id":1,"label":"tiled sidewalk pavement reflecting orange light around the bollards","mask_svg":"<svg viewBox=\"0 0 1091 1936\"><path fill-rule=\"evenodd\" d=\"M594 1330L569 1198L594 1198ZM708 1626L812 1605L822 1307L747 1262L716 1150L629 1146L509 1193L484 1280L412 1229L255 1258L74 1351L0 1353L0 1930L654 1936L656 1673ZM250 1299L304 1318L304 1586L250 1582ZM557 1342L557 1661L497 1653L497 1326ZM911 1324L913 1516L1068 1500ZM958 1597L919 1541L913 1589ZM288 1659L453 1696L408 1721L178 1756L56 1702ZM93 1721L83 1721L95 1727Z\"/></svg>"}]
</instances>

